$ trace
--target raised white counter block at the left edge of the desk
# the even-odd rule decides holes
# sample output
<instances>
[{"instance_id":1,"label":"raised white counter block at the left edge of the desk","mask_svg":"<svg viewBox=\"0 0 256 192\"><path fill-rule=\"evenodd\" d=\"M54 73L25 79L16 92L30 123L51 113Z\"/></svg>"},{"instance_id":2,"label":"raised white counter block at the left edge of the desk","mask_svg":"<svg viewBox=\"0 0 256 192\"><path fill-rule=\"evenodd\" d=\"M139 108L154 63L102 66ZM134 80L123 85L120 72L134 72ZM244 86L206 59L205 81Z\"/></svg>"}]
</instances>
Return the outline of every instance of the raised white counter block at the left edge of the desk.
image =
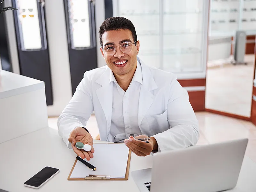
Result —
<instances>
[{"instance_id":1,"label":"raised white counter block at the left edge of the desk","mask_svg":"<svg viewBox=\"0 0 256 192\"><path fill-rule=\"evenodd\" d=\"M48 127L44 82L1 70L0 143Z\"/></svg>"}]
</instances>

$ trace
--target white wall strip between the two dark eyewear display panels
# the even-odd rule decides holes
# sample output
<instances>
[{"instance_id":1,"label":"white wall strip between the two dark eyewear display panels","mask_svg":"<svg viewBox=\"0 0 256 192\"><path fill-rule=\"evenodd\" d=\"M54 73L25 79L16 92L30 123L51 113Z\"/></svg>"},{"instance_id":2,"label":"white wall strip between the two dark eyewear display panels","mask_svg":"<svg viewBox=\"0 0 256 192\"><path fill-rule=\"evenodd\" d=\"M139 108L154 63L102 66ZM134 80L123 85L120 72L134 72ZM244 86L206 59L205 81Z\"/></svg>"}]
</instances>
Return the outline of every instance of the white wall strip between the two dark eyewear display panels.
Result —
<instances>
[{"instance_id":1,"label":"white wall strip between the two dark eyewear display panels","mask_svg":"<svg viewBox=\"0 0 256 192\"><path fill-rule=\"evenodd\" d=\"M47 112L59 116L72 97L64 1L45 0L45 17L53 91Z\"/></svg>"}]
</instances>

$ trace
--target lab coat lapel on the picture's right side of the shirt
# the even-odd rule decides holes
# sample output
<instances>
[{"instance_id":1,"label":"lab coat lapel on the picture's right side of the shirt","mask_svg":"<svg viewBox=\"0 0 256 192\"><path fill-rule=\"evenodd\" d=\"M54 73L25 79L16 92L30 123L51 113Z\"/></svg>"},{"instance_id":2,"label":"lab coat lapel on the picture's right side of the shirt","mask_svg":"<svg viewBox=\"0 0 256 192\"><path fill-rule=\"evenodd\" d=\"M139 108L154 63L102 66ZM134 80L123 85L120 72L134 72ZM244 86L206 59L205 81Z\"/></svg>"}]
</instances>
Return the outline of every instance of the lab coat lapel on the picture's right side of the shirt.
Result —
<instances>
[{"instance_id":1,"label":"lab coat lapel on the picture's right side of the shirt","mask_svg":"<svg viewBox=\"0 0 256 192\"><path fill-rule=\"evenodd\" d=\"M152 90L157 89L156 82L151 74L150 69L142 61L137 58L141 64L143 84L140 88L139 108L138 108L138 124L140 127L141 121L146 115L148 109L155 100Z\"/></svg>"}]
</instances>

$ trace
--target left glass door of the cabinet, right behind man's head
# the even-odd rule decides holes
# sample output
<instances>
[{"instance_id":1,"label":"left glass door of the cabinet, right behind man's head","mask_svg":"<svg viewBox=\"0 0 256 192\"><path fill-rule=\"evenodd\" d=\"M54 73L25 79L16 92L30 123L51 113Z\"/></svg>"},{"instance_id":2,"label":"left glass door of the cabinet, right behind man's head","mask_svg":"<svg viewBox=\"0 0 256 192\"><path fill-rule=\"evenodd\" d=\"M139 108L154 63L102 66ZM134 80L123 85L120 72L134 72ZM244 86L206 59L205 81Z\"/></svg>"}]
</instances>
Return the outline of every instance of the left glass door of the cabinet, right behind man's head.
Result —
<instances>
[{"instance_id":1,"label":"left glass door of the cabinet, right behind man's head","mask_svg":"<svg viewBox=\"0 0 256 192\"><path fill-rule=\"evenodd\" d=\"M160 1L116 0L114 16L132 21L140 41L139 57L147 64L160 68Z\"/></svg>"}]
</instances>

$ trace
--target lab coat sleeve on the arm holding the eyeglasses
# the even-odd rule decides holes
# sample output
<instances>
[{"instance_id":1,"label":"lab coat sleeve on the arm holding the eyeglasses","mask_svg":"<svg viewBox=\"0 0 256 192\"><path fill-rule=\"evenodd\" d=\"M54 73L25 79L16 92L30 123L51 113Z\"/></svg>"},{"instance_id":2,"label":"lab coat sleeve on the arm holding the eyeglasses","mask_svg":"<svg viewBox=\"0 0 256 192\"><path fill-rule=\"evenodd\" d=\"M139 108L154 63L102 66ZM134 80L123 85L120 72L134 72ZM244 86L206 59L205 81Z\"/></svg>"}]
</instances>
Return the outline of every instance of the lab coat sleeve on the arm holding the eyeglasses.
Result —
<instances>
[{"instance_id":1,"label":"lab coat sleeve on the arm holding the eyeglasses","mask_svg":"<svg viewBox=\"0 0 256 192\"><path fill-rule=\"evenodd\" d=\"M153 135L158 152L186 148L195 145L199 139L199 125L188 100L188 92L175 79L170 84L167 121L170 129Z\"/></svg>"}]
</instances>

